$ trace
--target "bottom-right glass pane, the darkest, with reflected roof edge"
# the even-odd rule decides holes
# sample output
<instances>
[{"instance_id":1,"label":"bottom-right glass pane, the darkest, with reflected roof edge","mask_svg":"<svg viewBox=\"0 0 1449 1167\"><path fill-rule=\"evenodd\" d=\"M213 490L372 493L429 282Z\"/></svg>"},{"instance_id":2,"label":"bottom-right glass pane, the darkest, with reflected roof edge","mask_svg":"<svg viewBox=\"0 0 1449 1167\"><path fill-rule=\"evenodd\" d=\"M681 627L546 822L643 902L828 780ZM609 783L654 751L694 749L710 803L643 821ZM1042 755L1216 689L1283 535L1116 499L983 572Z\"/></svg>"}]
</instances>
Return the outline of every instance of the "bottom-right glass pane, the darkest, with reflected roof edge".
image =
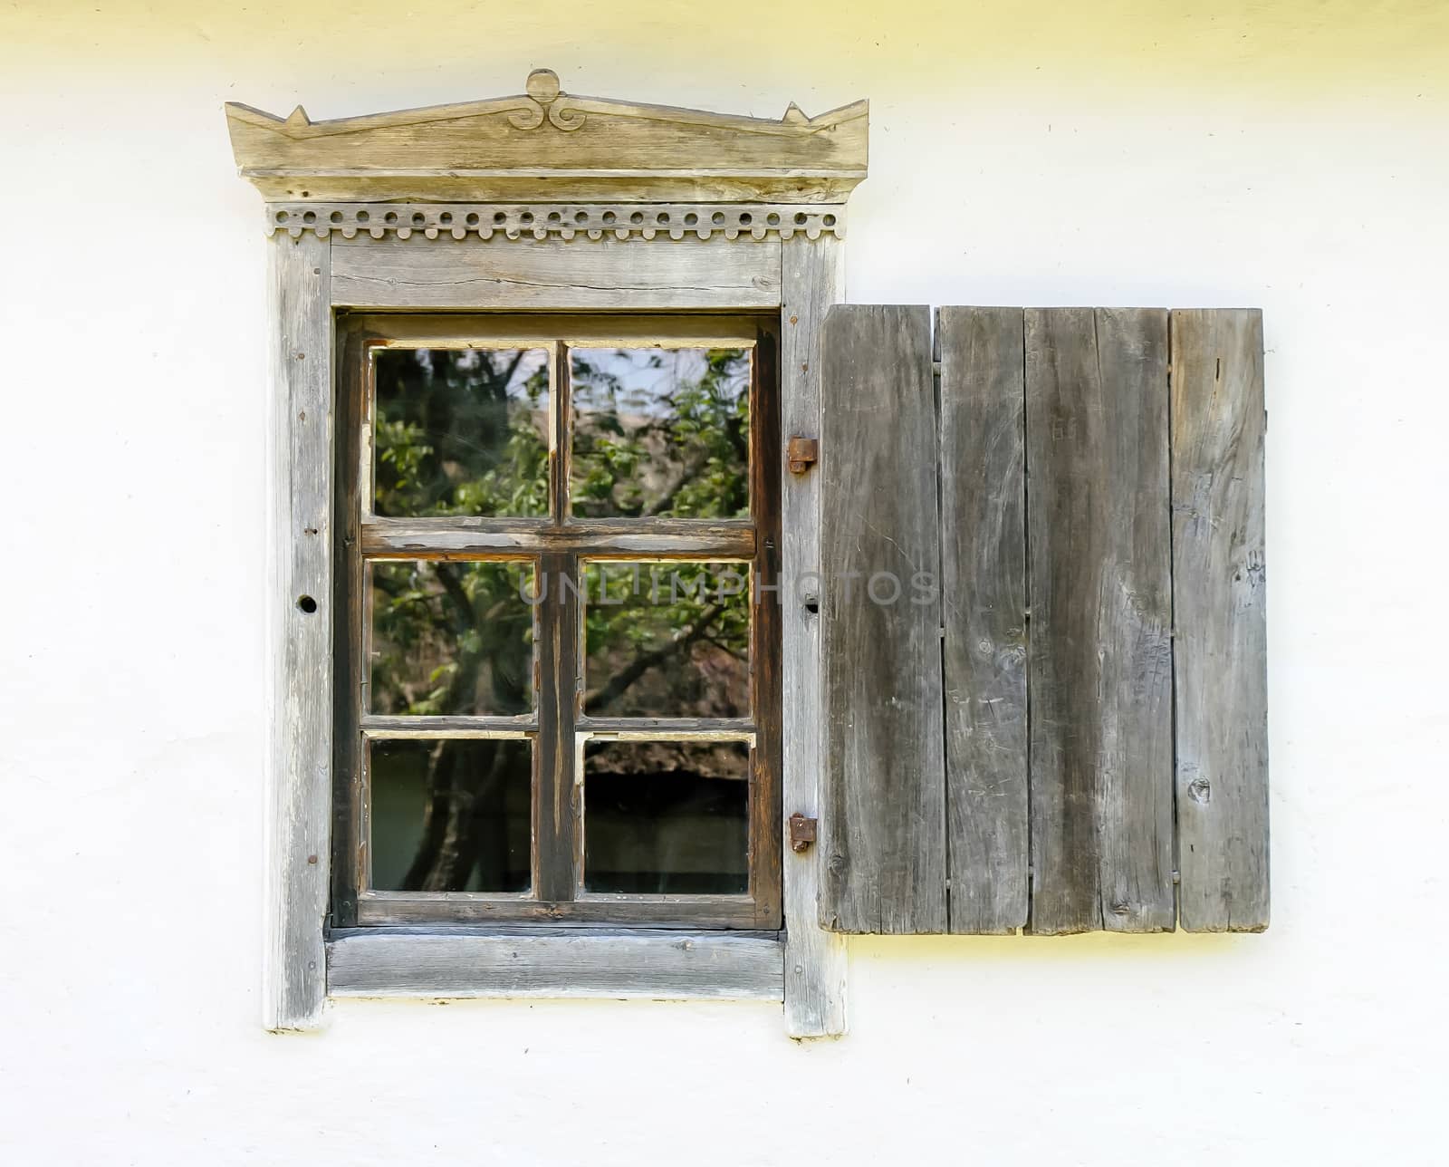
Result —
<instances>
[{"instance_id":1,"label":"bottom-right glass pane, the darkest, with reflected roof edge","mask_svg":"<svg viewBox=\"0 0 1449 1167\"><path fill-rule=\"evenodd\" d=\"M749 890L745 742L598 742L584 751L584 889Z\"/></svg>"}]
</instances>

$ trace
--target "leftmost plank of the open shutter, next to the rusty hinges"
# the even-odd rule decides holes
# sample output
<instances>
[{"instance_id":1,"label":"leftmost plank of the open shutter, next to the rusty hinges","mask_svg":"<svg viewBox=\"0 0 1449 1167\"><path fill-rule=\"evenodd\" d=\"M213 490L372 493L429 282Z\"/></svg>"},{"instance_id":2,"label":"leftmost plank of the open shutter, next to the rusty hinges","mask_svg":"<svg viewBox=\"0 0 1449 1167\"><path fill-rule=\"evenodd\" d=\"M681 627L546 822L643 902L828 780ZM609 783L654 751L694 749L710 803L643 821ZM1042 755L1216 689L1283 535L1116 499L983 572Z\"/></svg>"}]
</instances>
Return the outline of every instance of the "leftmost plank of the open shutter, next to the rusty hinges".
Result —
<instances>
[{"instance_id":1,"label":"leftmost plank of the open shutter, next to the rusty hinges","mask_svg":"<svg viewBox=\"0 0 1449 1167\"><path fill-rule=\"evenodd\" d=\"M820 921L842 932L943 932L930 310L839 304L823 349Z\"/></svg>"}]
</instances>

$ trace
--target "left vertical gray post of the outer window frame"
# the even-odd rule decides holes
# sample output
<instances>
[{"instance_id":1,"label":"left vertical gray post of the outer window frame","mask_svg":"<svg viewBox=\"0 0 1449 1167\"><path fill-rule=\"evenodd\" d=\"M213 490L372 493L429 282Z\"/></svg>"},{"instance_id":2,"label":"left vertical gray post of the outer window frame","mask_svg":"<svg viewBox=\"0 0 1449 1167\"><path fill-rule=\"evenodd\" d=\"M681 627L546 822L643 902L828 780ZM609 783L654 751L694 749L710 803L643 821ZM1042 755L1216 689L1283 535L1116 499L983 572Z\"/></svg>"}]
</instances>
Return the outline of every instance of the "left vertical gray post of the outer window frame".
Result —
<instances>
[{"instance_id":1,"label":"left vertical gray post of the outer window frame","mask_svg":"<svg viewBox=\"0 0 1449 1167\"><path fill-rule=\"evenodd\" d=\"M332 781L332 309L329 245L271 244L267 951L262 1023L306 1029L326 996Z\"/></svg>"}]
</instances>

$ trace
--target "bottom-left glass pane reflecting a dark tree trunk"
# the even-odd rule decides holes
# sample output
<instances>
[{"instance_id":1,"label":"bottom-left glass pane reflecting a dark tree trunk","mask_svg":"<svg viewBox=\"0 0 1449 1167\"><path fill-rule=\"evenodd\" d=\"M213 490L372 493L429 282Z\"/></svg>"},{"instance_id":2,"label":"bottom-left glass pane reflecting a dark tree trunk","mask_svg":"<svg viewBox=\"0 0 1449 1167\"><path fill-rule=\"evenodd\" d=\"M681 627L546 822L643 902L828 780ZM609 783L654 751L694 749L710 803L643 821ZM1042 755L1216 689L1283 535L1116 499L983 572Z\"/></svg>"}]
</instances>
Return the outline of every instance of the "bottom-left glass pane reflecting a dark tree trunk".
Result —
<instances>
[{"instance_id":1,"label":"bottom-left glass pane reflecting a dark tree trunk","mask_svg":"<svg viewBox=\"0 0 1449 1167\"><path fill-rule=\"evenodd\" d=\"M527 892L532 767L519 739L369 742L369 886Z\"/></svg>"}]
</instances>

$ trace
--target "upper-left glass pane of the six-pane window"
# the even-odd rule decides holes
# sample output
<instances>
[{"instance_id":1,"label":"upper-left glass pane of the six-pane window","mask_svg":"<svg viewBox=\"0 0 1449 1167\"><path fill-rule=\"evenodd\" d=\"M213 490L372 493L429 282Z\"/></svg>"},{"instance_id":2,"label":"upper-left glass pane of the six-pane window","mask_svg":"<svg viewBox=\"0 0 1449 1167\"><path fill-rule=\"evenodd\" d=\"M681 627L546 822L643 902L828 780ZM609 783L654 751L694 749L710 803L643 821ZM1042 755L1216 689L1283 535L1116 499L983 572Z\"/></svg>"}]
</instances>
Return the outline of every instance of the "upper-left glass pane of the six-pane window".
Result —
<instances>
[{"instance_id":1,"label":"upper-left glass pane of the six-pane window","mask_svg":"<svg viewBox=\"0 0 1449 1167\"><path fill-rule=\"evenodd\" d=\"M377 515L548 515L548 354L383 348Z\"/></svg>"}]
</instances>

